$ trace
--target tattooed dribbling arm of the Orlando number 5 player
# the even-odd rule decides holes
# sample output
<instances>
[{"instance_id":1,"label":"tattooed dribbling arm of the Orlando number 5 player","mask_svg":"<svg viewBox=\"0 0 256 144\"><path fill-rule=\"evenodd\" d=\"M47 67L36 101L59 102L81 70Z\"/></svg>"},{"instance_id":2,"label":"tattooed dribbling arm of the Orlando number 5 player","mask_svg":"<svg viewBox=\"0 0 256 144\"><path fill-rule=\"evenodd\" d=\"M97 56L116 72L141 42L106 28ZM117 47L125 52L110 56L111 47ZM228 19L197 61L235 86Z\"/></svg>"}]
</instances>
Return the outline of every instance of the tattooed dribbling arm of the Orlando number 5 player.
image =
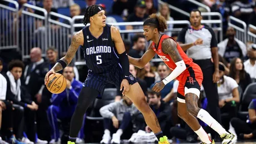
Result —
<instances>
[{"instance_id":1,"label":"tattooed dribbling arm of the Orlando number 5 player","mask_svg":"<svg viewBox=\"0 0 256 144\"><path fill-rule=\"evenodd\" d=\"M81 39L82 39L81 33L76 33L72 39L71 39L71 45L67 50L66 56L62 57L61 60L64 61L67 65L70 64L72 61L73 57L76 54L76 51L78 47L81 45ZM55 72L61 71L63 68L60 63L56 63L55 66L53 67L53 70Z\"/></svg>"}]
</instances>

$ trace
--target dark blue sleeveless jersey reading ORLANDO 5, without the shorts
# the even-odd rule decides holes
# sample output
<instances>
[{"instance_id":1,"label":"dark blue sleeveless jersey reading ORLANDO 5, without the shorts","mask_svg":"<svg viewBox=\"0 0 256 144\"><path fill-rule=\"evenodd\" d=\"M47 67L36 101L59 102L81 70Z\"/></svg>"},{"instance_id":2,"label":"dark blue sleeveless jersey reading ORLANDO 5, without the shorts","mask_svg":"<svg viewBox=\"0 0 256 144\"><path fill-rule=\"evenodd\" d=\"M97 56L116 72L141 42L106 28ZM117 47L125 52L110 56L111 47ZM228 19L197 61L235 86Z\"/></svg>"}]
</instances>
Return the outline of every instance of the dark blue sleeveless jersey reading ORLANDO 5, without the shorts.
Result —
<instances>
[{"instance_id":1,"label":"dark blue sleeveless jersey reading ORLANDO 5, without the shorts","mask_svg":"<svg viewBox=\"0 0 256 144\"><path fill-rule=\"evenodd\" d=\"M94 73L106 73L119 64L118 53L111 38L111 26L106 24L99 38L92 36L89 26L83 31L83 54L87 67Z\"/></svg>"}]
</instances>

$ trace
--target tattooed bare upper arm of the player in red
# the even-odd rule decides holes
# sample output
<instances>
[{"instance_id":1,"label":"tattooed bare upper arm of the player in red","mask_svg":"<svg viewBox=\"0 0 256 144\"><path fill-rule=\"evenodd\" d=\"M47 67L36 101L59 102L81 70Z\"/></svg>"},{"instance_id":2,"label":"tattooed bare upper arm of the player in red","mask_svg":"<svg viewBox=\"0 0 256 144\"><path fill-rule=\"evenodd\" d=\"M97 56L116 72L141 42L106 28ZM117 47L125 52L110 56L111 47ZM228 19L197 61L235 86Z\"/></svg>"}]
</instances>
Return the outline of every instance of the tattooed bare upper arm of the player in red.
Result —
<instances>
[{"instance_id":1,"label":"tattooed bare upper arm of the player in red","mask_svg":"<svg viewBox=\"0 0 256 144\"><path fill-rule=\"evenodd\" d=\"M177 43L173 39L164 39L162 43L162 50L166 54L168 53L174 63L182 61L180 53L177 48Z\"/></svg>"}]
</instances>

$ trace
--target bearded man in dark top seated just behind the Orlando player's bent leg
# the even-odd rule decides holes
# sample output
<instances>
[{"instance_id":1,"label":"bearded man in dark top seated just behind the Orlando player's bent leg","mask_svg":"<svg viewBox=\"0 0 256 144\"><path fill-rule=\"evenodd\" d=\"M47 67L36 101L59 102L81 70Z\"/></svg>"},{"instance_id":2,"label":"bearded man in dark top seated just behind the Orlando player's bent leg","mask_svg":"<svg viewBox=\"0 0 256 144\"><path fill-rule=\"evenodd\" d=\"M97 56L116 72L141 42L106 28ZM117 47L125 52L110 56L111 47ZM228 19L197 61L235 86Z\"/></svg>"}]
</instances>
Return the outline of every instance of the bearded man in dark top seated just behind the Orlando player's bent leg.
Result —
<instances>
[{"instance_id":1,"label":"bearded man in dark top seated just behind the Orlando player's bent leg","mask_svg":"<svg viewBox=\"0 0 256 144\"><path fill-rule=\"evenodd\" d=\"M166 130L170 130L170 123L171 123L171 107L169 103L165 103L161 101L160 93L154 92L152 90L147 92L147 100L149 103L150 108L154 111L157 120L159 121L159 125L161 130L166 133ZM146 132L151 132L149 126L145 127Z\"/></svg>"}]
</instances>

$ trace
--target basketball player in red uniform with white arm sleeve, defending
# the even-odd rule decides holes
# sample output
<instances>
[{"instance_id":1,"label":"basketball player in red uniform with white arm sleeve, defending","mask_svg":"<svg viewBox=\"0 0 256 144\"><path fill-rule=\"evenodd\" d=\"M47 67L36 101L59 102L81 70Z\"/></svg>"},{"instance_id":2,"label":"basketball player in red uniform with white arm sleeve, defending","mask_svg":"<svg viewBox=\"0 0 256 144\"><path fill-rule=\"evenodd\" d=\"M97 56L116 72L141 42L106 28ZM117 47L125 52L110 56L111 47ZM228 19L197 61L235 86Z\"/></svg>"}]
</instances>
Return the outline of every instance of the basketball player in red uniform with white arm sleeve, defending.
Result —
<instances>
[{"instance_id":1,"label":"basketball player in red uniform with white arm sleeve, defending","mask_svg":"<svg viewBox=\"0 0 256 144\"><path fill-rule=\"evenodd\" d=\"M151 14L151 16L146 19L143 26L146 40L152 42L141 58L132 58L129 56L130 63L134 64L136 67L142 68L155 56L155 53L157 53L173 71L163 81L156 83L152 90L160 92L166 83L176 78L179 81L177 95L178 115L195 131L202 143L209 144L215 142L211 141L195 117L198 117L201 121L218 132L223 140L223 144L230 144L237 140L237 137L225 131L207 111L198 107L203 73L201 68L195 64L191 58L186 56L183 49L172 37L160 34L160 32L164 32L167 28L165 18Z\"/></svg>"}]
</instances>

